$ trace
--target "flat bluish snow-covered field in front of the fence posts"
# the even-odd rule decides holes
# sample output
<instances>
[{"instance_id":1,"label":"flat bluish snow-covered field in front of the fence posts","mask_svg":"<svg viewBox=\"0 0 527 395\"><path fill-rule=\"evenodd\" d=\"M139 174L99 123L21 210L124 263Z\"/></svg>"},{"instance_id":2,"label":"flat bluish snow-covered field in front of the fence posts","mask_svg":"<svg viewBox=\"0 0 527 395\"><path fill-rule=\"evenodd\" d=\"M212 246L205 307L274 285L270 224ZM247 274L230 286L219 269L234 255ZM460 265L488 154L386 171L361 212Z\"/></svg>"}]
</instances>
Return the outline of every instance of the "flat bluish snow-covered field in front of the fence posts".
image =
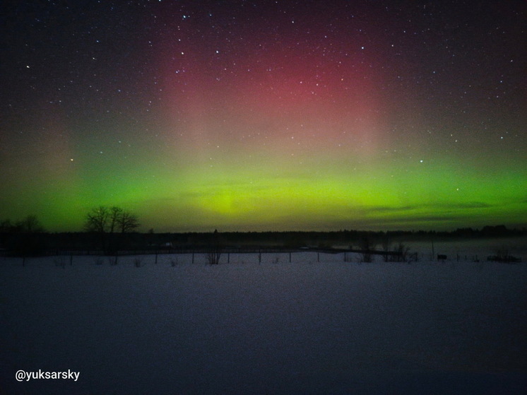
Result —
<instances>
[{"instance_id":1,"label":"flat bluish snow-covered field in front of the fence posts","mask_svg":"<svg viewBox=\"0 0 527 395\"><path fill-rule=\"evenodd\" d=\"M0 258L0 394L526 393L527 264L421 247L412 264Z\"/></svg>"}]
</instances>

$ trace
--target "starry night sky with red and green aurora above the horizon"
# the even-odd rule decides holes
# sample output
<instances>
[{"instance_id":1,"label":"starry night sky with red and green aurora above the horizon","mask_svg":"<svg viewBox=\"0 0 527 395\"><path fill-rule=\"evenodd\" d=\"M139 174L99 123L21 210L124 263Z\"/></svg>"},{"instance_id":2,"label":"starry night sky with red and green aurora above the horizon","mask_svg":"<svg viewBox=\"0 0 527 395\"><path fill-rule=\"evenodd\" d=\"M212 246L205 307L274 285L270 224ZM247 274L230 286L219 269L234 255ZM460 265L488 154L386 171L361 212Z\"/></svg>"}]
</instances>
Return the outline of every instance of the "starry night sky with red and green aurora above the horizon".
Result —
<instances>
[{"instance_id":1,"label":"starry night sky with red and green aurora above the horizon","mask_svg":"<svg viewBox=\"0 0 527 395\"><path fill-rule=\"evenodd\" d=\"M523 0L0 7L0 219L527 225Z\"/></svg>"}]
</instances>

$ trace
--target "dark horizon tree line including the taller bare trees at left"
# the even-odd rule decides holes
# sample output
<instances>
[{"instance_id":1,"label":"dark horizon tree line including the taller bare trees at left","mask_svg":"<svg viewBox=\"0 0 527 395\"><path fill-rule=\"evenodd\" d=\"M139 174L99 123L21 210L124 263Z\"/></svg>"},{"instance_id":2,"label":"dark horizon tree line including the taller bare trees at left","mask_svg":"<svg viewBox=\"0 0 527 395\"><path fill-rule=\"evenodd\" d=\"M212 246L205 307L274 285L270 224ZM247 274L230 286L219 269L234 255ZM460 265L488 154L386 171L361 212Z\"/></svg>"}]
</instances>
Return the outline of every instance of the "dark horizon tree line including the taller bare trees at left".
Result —
<instances>
[{"instance_id":1,"label":"dark horizon tree line including the taller bare trees at left","mask_svg":"<svg viewBox=\"0 0 527 395\"><path fill-rule=\"evenodd\" d=\"M117 254L119 250L161 250L214 248L211 261L218 261L225 248L302 248L341 247L350 249L405 252L401 244L408 241L473 239L489 237L527 236L527 229L509 229L504 225L481 229L459 228L451 232L338 230L330 232L137 232L138 218L134 213L117 206L100 206L85 214L84 232L49 233L37 219L28 216L12 222L0 220L0 252L2 254L40 254L53 250L99 251ZM221 248L220 248L221 247Z\"/></svg>"}]
</instances>

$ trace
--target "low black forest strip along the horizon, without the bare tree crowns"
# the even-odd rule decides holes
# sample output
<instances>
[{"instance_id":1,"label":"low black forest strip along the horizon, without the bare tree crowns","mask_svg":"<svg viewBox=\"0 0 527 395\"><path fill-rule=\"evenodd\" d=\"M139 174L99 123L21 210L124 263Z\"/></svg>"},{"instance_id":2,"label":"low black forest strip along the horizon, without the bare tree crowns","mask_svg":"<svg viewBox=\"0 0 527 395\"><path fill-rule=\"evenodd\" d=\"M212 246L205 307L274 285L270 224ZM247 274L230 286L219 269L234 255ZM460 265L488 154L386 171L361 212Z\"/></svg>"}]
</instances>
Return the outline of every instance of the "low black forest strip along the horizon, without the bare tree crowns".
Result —
<instances>
[{"instance_id":1,"label":"low black forest strip along the horizon, without the bare tree crowns","mask_svg":"<svg viewBox=\"0 0 527 395\"><path fill-rule=\"evenodd\" d=\"M111 221L109 221L111 224ZM53 251L100 251L113 254L122 250L158 251L170 249L199 249L220 244L233 248L302 248L344 247L375 249L398 242L440 241L489 237L526 236L527 230L508 229L503 225L472 229L461 228L452 232L437 231L390 231L367 232L339 230L334 232L187 232L147 233L112 232L111 225L104 232L86 227L85 232L35 232L19 228L2 228L0 249L5 254L35 255Z\"/></svg>"}]
</instances>

